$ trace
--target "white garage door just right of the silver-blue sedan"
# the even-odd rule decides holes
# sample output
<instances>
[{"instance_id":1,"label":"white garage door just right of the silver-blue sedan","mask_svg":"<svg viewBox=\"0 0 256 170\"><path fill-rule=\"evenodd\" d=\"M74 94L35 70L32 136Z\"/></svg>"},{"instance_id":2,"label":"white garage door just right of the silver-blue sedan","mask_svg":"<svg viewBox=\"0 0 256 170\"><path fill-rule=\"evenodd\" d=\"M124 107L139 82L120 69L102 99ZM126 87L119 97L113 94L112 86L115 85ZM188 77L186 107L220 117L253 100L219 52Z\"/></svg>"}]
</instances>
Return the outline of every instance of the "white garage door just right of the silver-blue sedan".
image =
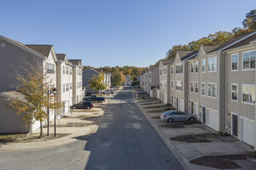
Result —
<instances>
[{"instance_id":1,"label":"white garage door just right of the silver-blue sedan","mask_svg":"<svg viewBox=\"0 0 256 170\"><path fill-rule=\"evenodd\" d=\"M206 110L206 125L210 128L219 131L219 113L210 109Z\"/></svg>"}]
</instances>

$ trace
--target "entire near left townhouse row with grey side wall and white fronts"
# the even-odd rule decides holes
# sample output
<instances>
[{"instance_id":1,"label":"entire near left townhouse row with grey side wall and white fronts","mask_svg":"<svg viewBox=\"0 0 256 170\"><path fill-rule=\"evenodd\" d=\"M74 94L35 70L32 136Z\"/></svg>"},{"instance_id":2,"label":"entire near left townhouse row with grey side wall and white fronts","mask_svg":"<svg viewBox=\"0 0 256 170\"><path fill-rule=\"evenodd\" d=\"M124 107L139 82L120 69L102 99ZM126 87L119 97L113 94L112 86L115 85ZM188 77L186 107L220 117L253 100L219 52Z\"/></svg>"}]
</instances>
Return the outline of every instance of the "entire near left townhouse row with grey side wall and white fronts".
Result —
<instances>
[{"instance_id":1,"label":"entire near left townhouse row with grey side wall and white fronts","mask_svg":"<svg viewBox=\"0 0 256 170\"><path fill-rule=\"evenodd\" d=\"M40 127L40 121L35 121L26 127L22 121L22 115L17 116L15 111L7 108L7 100L10 98L26 101L24 95L16 92L16 88L12 85L17 83L14 78L16 73L27 76L24 68L27 68L28 64L34 66L39 64L47 75L46 81L50 83L49 88L56 87L57 100L64 104L62 113L68 111L71 104L82 99L80 59L71 59L69 62L65 54L56 54L53 45L25 45L2 35L0 35L0 56L4 61L0 63L0 76L5 80L0 83L0 115L3 117L0 120L0 133L28 133ZM29 68L27 71L29 72ZM62 91L64 83L65 92ZM76 88L75 83L80 84L80 87ZM46 111L49 114L49 120L53 120L54 111L47 109Z\"/></svg>"}]
</instances>

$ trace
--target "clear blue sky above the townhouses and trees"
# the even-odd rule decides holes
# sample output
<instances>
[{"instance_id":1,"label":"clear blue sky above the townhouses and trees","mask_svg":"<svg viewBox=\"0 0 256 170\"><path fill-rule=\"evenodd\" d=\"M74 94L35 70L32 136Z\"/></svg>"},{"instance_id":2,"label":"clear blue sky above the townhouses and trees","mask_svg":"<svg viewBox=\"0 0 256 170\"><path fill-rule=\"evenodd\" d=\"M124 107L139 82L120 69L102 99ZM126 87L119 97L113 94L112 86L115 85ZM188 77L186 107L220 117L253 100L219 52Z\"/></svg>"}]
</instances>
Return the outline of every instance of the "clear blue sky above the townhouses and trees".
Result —
<instances>
[{"instance_id":1,"label":"clear blue sky above the townhouses and trees","mask_svg":"<svg viewBox=\"0 0 256 170\"><path fill-rule=\"evenodd\" d=\"M54 45L93 67L147 67L215 31L242 27L255 0L0 0L0 35Z\"/></svg>"}]
</instances>

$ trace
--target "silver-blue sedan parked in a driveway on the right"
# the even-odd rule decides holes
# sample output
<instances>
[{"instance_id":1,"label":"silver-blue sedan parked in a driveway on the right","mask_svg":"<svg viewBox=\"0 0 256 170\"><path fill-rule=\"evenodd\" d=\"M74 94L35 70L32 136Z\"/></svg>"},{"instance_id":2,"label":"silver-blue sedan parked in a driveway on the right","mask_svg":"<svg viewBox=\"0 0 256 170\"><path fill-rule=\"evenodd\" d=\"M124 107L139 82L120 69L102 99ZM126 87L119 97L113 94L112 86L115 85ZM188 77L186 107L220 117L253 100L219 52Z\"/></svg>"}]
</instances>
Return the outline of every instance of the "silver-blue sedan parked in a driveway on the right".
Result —
<instances>
[{"instance_id":1,"label":"silver-blue sedan parked in a driveway on the right","mask_svg":"<svg viewBox=\"0 0 256 170\"><path fill-rule=\"evenodd\" d=\"M167 121L168 123L172 123L174 121L196 121L197 118L195 115L192 114L186 114L183 111L167 111L161 114L160 116L161 120Z\"/></svg>"}]
</instances>

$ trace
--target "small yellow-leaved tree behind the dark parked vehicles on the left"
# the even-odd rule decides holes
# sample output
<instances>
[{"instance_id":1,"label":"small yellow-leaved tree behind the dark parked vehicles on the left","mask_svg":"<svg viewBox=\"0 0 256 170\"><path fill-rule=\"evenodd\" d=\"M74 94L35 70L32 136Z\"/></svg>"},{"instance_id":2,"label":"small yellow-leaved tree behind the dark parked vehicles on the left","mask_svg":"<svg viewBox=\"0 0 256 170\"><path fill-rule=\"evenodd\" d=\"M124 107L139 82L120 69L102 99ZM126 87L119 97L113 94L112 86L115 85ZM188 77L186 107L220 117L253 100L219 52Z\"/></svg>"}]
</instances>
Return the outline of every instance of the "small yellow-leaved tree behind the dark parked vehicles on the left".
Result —
<instances>
[{"instance_id":1,"label":"small yellow-leaved tree behind the dark parked vehicles on the left","mask_svg":"<svg viewBox=\"0 0 256 170\"><path fill-rule=\"evenodd\" d=\"M107 89L107 85L104 84L104 73L101 72L99 75L94 75L94 78L89 81L89 87L95 91Z\"/></svg>"}]
</instances>

